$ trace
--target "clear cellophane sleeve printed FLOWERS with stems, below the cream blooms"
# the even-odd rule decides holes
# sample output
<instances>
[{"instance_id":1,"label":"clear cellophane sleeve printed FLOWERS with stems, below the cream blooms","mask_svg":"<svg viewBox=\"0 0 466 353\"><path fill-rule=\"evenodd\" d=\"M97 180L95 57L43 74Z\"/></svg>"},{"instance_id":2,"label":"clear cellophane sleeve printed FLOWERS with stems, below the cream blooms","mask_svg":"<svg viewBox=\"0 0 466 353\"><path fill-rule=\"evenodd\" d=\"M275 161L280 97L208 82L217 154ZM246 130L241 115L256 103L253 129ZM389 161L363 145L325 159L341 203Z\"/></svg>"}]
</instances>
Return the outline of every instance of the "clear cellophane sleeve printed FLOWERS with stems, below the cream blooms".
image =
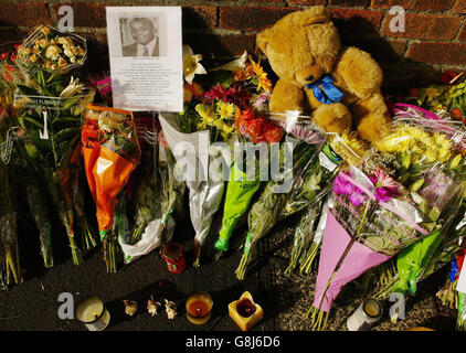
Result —
<instances>
[{"instance_id":1,"label":"clear cellophane sleeve printed FLOWERS with stems, below the cream blooms","mask_svg":"<svg viewBox=\"0 0 466 353\"><path fill-rule=\"evenodd\" d=\"M52 97L41 97L41 92L35 88L18 85L14 101L18 120L24 131L20 146L29 163L30 178L40 180L38 188L47 190L57 207L76 265L81 263L82 256L75 242L75 216L76 206L84 203L84 195L74 193L81 172L81 157L75 151L80 150L82 113L85 105L93 99L94 90L85 87L78 79L73 79L65 89L62 88L60 96ZM46 213L46 199L36 196L34 200L35 205L31 205L31 212L36 226L41 233L49 232L43 231L50 229L43 216ZM83 244L94 244L86 218L80 216L78 222ZM49 236L41 238L46 239ZM45 248L43 246L43 252ZM45 265L51 266L52 258L43 255Z\"/></svg>"}]
</instances>

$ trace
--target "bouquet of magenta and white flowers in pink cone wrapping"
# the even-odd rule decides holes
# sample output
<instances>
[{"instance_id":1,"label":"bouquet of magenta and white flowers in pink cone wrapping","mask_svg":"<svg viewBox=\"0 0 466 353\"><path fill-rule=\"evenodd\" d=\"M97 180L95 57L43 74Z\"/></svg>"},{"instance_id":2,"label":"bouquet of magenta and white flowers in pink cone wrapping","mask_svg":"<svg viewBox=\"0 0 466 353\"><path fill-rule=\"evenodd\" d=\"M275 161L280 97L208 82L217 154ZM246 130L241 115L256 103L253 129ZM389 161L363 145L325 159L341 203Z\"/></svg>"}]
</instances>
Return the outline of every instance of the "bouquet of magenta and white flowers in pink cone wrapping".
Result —
<instances>
[{"instance_id":1,"label":"bouquet of magenta and white flowers in pink cone wrapping","mask_svg":"<svg viewBox=\"0 0 466 353\"><path fill-rule=\"evenodd\" d=\"M363 168L351 165L333 182L314 301L325 312L346 284L443 227L438 203L422 204L386 170ZM458 188L449 196L455 201Z\"/></svg>"}]
</instances>

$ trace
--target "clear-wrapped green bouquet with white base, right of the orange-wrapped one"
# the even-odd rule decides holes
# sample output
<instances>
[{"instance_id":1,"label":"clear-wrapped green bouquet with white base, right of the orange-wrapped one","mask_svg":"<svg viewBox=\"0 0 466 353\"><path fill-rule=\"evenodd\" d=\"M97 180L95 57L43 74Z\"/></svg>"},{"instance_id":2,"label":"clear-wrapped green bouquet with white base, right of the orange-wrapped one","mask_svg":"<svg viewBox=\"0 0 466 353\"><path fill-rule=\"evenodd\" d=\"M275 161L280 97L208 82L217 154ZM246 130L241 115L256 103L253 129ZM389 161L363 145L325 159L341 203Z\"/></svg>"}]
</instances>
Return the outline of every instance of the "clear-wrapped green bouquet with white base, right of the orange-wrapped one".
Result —
<instances>
[{"instance_id":1,"label":"clear-wrapped green bouquet with white base, right of the orange-wrapped one","mask_svg":"<svg viewBox=\"0 0 466 353\"><path fill-rule=\"evenodd\" d=\"M149 121L138 118L138 137L141 146L141 163L137 182L129 200L118 203L118 242L125 255L125 264L133 263L162 247L172 238L174 215L182 202L184 183L174 178L174 157L163 133ZM133 210L128 204L133 204Z\"/></svg>"}]
</instances>

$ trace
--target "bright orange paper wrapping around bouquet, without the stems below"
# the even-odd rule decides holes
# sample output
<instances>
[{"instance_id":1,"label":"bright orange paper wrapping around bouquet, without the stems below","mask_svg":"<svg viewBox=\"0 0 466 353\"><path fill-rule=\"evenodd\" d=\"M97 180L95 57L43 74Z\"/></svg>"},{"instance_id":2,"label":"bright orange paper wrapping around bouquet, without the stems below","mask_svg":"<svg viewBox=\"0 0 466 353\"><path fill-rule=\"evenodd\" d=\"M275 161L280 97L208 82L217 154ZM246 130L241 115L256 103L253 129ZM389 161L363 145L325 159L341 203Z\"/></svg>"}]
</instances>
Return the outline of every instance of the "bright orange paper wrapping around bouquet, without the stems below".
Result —
<instances>
[{"instance_id":1,"label":"bright orange paper wrapping around bouquet, without the stems below","mask_svg":"<svg viewBox=\"0 0 466 353\"><path fill-rule=\"evenodd\" d=\"M118 145L115 145L115 139L110 138L109 147L106 147L106 136L112 136L112 132L104 132L99 129L98 122L89 117L89 111L110 111L114 114L130 116L130 126L134 133L128 133L127 137L134 142L135 150L133 154L125 157L117 153ZM118 129L116 133L125 133ZM121 133L123 132L123 133ZM126 185L129 175L135 170L140 154L139 145L137 141L137 133L135 131L134 118L130 111L104 108L96 106L88 106L86 113L86 124L82 131L84 168L86 172L87 183L93 194L97 207L97 221L100 235L103 232L112 229L113 220L115 215L116 200L119 192ZM127 156L131 158L126 158Z\"/></svg>"}]
</instances>

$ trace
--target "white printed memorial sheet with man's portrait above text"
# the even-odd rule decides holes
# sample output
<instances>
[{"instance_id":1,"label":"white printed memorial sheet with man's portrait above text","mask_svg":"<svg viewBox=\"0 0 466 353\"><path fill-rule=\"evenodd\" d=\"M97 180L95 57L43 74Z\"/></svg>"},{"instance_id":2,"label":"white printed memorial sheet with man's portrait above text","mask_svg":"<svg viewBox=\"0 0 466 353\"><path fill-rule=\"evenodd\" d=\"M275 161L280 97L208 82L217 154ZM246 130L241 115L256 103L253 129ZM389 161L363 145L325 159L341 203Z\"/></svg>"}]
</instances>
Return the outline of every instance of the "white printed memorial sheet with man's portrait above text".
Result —
<instances>
[{"instance_id":1,"label":"white printed memorial sheet with man's portrait above text","mask_svg":"<svg viewBox=\"0 0 466 353\"><path fill-rule=\"evenodd\" d=\"M107 7L114 107L182 111L180 7Z\"/></svg>"}]
</instances>

